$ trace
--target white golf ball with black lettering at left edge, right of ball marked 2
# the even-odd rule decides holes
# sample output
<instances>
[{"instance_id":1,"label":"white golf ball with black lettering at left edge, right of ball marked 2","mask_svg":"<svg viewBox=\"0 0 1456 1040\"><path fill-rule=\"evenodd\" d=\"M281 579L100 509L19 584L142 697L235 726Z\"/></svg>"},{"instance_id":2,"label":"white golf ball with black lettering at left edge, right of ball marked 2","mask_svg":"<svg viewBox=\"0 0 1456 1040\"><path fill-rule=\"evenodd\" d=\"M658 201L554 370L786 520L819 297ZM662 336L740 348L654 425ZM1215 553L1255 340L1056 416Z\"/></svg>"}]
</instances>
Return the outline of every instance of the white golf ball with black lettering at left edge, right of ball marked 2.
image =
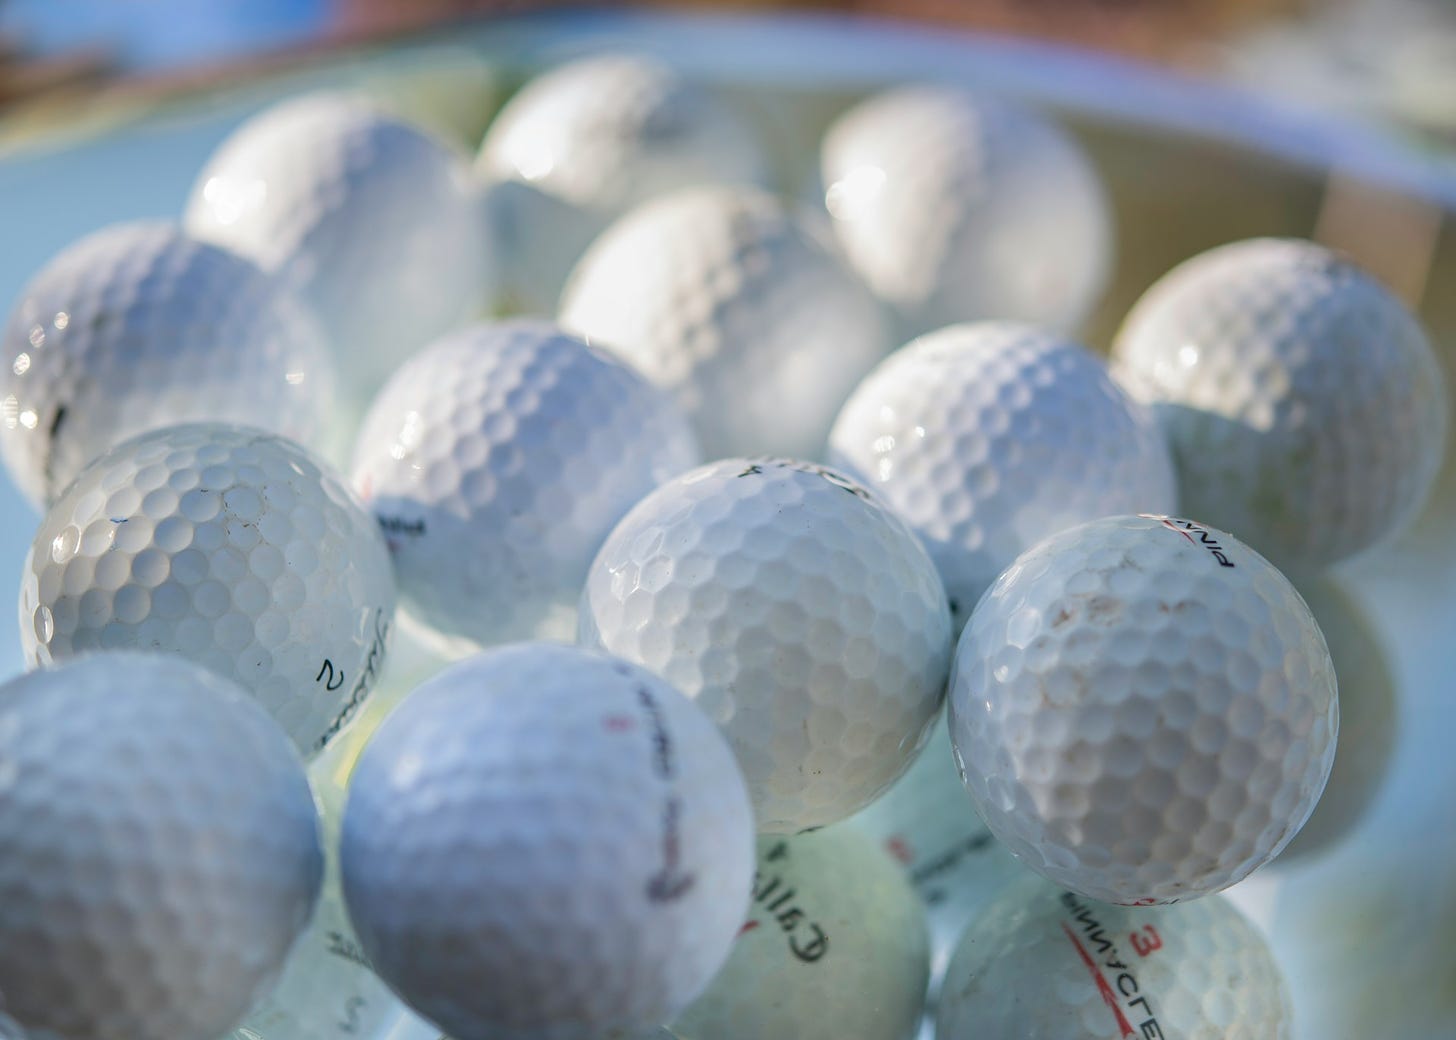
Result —
<instances>
[{"instance_id":1,"label":"white golf ball with black lettering at left edge, right of ball marked 2","mask_svg":"<svg viewBox=\"0 0 1456 1040\"><path fill-rule=\"evenodd\" d=\"M546 322L454 334L371 406L354 488L400 593L456 651L571 642L587 567L622 516L699 462L671 399Z\"/></svg>"}]
</instances>

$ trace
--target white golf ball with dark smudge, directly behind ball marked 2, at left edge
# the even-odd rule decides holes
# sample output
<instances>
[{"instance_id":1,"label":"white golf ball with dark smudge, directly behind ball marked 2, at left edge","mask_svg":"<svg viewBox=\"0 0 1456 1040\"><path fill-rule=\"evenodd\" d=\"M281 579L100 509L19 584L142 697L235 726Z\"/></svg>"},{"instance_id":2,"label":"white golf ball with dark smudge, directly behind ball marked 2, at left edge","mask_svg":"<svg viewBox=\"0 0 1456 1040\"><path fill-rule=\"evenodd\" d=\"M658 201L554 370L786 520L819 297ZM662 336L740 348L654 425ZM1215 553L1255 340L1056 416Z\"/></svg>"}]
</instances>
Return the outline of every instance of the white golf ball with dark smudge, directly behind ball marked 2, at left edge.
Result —
<instances>
[{"instance_id":1,"label":"white golf ball with dark smudge, directly behind ball marked 2, at left edge","mask_svg":"<svg viewBox=\"0 0 1456 1040\"><path fill-rule=\"evenodd\" d=\"M252 422L309 443L333 395L328 348L291 293L160 223L57 255L20 293L0 352L0 452L39 507L112 444L170 422Z\"/></svg>"}]
</instances>

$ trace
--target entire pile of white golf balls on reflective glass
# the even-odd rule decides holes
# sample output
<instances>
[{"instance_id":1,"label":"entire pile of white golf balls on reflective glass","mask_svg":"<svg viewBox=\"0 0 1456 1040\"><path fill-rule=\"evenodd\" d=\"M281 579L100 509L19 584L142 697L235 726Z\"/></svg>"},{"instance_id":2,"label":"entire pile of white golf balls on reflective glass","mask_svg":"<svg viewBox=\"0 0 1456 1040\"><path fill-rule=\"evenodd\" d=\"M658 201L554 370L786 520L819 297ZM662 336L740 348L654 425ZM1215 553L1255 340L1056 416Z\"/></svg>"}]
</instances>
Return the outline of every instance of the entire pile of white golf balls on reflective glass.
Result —
<instances>
[{"instance_id":1,"label":"entire pile of white golf balls on reflective glass","mask_svg":"<svg viewBox=\"0 0 1456 1040\"><path fill-rule=\"evenodd\" d=\"M473 168L317 95L35 275L0 1031L1289 1036L1216 894L1335 753L1275 564L1420 511L1418 322L1252 240L1108 366L1115 221L1054 122L903 87L818 165L808 214L633 55Z\"/></svg>"}]
</instances>

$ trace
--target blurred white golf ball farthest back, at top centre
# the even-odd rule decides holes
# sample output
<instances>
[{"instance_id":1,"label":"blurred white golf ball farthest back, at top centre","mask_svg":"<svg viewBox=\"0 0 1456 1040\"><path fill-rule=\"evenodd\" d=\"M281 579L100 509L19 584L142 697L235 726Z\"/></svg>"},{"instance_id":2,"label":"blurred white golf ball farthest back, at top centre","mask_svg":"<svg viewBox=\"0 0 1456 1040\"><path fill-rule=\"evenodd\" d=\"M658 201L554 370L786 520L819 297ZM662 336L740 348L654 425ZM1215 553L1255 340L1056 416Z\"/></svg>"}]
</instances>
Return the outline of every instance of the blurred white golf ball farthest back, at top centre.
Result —
<instances>
[{"instance_id":1,"label":"blurred white golf ball farthest back, at top centre","mask_svg":"<svg viewBox=\"0 0 1456 1040\"><path fill-rule=\"evenodd\" d=\"M652 58L607 54L537 76L480 144L508 306L552 313L571 265L638 202L700 184L766 185L743 119Z\"/></svg>"}]
</instances>

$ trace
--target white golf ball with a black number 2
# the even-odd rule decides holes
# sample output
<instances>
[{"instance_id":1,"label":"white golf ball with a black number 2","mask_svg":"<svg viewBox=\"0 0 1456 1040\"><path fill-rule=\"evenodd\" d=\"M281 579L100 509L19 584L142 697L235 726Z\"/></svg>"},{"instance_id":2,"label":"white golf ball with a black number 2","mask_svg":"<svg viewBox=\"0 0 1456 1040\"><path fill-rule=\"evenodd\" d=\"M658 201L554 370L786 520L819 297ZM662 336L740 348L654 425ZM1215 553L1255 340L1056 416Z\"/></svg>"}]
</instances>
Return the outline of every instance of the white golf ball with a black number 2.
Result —
<instances>
[{"instance_id":1,"label":"white golf ball with a black number 2","mask_svg":"<svg viewBox=\"0 0 1456 1040\"><path fill-rule=\"evenodd\" d=\"M82 470L20 580L32 666L181 654L250 690L304 755L368 696L393 616L389 551L344 481L293 441L213 422Z\"/></svg>"}]
</instances>

